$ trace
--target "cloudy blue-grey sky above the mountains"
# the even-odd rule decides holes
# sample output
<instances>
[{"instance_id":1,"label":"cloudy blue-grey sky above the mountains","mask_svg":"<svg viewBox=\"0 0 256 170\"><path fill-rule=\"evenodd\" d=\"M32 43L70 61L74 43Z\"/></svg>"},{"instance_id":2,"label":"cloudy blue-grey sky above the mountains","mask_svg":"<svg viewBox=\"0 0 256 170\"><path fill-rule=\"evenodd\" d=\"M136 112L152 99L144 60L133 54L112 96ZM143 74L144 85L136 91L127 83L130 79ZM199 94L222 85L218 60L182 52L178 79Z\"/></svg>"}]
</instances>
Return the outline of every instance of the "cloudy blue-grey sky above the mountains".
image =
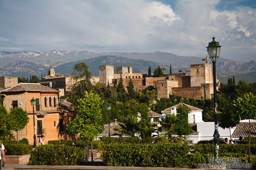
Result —
<instances>
[{"instance_id":1,"label":"cloudy blue-grey sky above the mountains","mask_svg":"<svg viewBox=\"0 0 256 170\"><path fill-rule=\"evenodd\" d=\"M170 52L256 60L256 0L0 0L0 51Z\"/></svg>"}]
</instances>

